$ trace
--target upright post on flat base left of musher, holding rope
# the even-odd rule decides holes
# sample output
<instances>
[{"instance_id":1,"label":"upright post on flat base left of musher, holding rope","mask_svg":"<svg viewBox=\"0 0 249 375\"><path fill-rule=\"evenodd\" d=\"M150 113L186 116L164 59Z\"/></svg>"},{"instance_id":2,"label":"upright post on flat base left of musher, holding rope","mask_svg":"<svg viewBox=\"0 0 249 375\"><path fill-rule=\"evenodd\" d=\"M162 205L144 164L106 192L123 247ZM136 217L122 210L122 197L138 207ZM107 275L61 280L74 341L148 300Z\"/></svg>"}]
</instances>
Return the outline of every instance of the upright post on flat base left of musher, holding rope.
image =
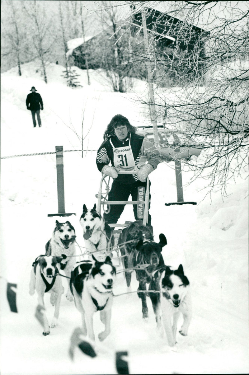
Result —
<instances>
[{"instance_id":1,"label":"upright post on flat base left of musher, holding rope","mask_svg":"<svg viewBox=\"0 0 249 375\"><path fill-rule=\"evenodd\" d=\"M58 213L48 214L48 216L76 215L75 213L66 213L65 211L63 146L55 146L55 153L56 153L56 172L57 172Z\"/></svg>"}]
</instances>

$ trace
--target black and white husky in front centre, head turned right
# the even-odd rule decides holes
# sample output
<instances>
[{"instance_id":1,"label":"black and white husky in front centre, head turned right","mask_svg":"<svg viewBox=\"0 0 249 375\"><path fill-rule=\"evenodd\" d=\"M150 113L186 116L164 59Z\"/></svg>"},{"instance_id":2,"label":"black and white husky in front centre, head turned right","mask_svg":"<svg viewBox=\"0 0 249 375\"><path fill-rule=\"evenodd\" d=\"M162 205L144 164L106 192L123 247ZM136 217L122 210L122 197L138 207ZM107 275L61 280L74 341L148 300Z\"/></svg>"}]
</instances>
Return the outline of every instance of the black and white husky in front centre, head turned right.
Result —
<instances>
[{"instance_id":1,"label":"black and white husky in front centre, head turned right","mask_svg":"<svg viewBox=\"0 0 249 375\"><path fill-rule=\"evenodd\" d=\"M100 318L105 330L99 333L100 341L110 334L111 307L113 304L113 283L116 269L111 258L99 262L94 255L93 262L82 261L75 265L71 272L70 288L75 306L82 316L83 334L95 340L93 332L93 314L100 311Z\"/></svg>"}]
</instances>

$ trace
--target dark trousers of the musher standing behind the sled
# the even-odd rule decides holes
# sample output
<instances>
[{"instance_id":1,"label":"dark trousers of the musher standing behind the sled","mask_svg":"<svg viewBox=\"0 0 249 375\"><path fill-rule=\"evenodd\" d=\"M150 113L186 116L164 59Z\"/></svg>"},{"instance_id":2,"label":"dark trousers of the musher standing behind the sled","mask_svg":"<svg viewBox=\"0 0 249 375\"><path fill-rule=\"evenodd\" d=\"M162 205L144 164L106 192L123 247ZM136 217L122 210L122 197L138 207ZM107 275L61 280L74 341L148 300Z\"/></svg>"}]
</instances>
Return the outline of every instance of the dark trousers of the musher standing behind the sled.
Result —
<instances>
[{"instance_id":1,"label":"dark trousers of the musher standing behind the sled","mask_svg":"<svg viewBox=\"0 0 249 375\"><path fill-rule=\"evenodd\" d=\"M113 180L111 190L108 194L108 201L127 201L131 195L132 201L141 200L141 187L144 187L144 193L146 192L147 182L136 181L133 184L122 184ZM150 186L150 185L149 185ZM144 198L145 199L145 198ZM144 200L142 199L142 200ZM124 204L111 204L110 212L108 214L104 213L104 219L107 223L117 223L118 219L121 216L121 213L124 210ZM141 210L141 207L139 207ZM135 219L141 219L138 205L133 204L133 212ZM150 194L149 194L149 208L150 208ZM148 214L148 225L151 225L151 216Z\"/></svg>"}]
</instances>

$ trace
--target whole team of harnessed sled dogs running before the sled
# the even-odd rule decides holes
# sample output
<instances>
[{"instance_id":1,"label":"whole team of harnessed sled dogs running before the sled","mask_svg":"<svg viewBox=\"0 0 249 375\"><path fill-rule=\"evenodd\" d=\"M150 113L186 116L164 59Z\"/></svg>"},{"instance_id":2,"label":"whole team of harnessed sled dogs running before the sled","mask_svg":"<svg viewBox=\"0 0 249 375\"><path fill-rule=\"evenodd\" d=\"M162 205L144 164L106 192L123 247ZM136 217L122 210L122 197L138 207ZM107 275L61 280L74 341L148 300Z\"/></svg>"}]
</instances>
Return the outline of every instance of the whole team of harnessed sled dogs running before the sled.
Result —
<instances>
[{"instance_id":1,"label":"whole team of harnessed sled dogs running before the sled","mask_svg":"<svg viewBox=\"0 0 249 375\"><path fill-rule=\"evenodd\" d=\"M51 327L56 327L64 293L60 276L60 271L63 270L68 280L66 298L74 300L81 313L84 335L95 340L93 315L100 311L104 331L99 333L98 338L103 341L111 330L113 285L116 278L116 269L111 260L114 236L110 226L96 211L96 204L91 210L83 205L80 224L86 249L91 253L89 260L76 261L75 229L69 221L60 223L56 220L51 239L45 245L45 255L40 255L33 262L29 293L33 295L36 290L38 303L44 309L44 293L51 294L50 302L55 306ZM183 266L180 264L177 270L172 270L164 264L161 252L165 245L167 240L164 234L159 235L159 243L155 242L150 226L144 226L141 220L124 228L118 239L124 271L127 270L127 288L130 287L132 275L130 269L135 269L139 282L138 297L142 302L142 318L148 318L146 297L149 296L157 329L161 336L165 333L168 345L174 346L180 313L183 315L183 324L179 332L183 336L187 335L192 317L191 299L189 280L184 275ZM154 293L146 293L146 290ZM45 312L43 321L43 335L49 335L50 327Z\"/></svg>"}]
</instances>

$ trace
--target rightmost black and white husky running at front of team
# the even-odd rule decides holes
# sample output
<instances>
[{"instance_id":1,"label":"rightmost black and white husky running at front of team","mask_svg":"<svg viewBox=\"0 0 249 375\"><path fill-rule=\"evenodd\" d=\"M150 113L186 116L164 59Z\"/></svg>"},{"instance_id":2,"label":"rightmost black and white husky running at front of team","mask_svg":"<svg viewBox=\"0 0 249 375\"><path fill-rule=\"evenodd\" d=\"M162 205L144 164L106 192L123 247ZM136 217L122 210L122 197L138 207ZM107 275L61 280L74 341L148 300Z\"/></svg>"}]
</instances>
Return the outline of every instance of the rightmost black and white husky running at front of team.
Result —
<instances>
[{"instance_id":1,"label":"rightmost black and white husky running at front of team","mask_svg":"<svg viewBox=\"0 0 249 375\"><path fill-rule=\"evenodd\" d=\"M183 266L171 270L163 266L154 273L150 290L160 293L150 293L153 310L156 315L157 329L166 333L169 346L176 343L177 322L180 313L183 314L183 325L180 334L187 336L192 318L192 303L189 290L189 280L184 275Z\"/></svg>"}]
</instances>

